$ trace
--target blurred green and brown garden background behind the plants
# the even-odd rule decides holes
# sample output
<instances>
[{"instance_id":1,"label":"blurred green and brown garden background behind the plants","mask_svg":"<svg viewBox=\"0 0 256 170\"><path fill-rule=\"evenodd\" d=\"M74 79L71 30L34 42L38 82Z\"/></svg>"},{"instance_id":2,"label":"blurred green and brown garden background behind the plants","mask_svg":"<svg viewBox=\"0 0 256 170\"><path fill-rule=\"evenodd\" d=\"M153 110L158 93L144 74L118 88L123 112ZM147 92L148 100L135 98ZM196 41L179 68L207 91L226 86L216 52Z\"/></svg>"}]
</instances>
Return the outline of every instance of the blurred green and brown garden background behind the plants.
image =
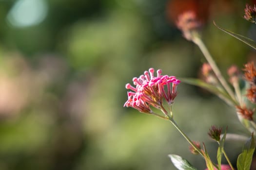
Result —
<instances>
[{"instance_id":1,"label":"blurred green and brown garden background behind the plants","mask_svg":"<svg viewBox=\"0 0 256 170\"><path fill-rule=\"evenodd\" d=\"M123 108L126 83L148 68L197 78L205 59L171 20L178 0L0 0L0 170L174 170L168 154L199 170L200 156L168 122ZM203 40L226 76L256 53L213 25L256 39L249 0L182 0L204 10ZM174 116L210 155L211 125L246 130L235 109L181 83ZM235 163L241 143L227 142ZM225 160L224 160L225 161Z\"/></svg>"}]
</instances>

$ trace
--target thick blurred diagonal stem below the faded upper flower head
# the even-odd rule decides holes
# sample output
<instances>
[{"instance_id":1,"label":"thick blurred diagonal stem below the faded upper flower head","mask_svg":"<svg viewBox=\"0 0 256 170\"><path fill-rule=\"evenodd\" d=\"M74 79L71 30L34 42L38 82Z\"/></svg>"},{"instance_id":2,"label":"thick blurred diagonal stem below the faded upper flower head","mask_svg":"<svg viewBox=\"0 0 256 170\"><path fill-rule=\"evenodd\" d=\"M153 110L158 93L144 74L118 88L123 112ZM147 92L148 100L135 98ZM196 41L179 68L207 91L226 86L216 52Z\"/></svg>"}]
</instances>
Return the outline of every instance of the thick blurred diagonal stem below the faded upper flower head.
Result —
<instances>
[{"instance_id":1,"label":"thick blurred diagonal stem below the faded upper flower head","mask_svg":"<svg viewBox=\"0 0 256 170\"><path fill-rule=\"evenodd\" d=\"M198 37L198 36L194 36L192 41L197 44L197 46L199 47L199 49L202 51L203 55L205 56L207 62L210 64L210 66L212 67L214 73L216 74L219 82L221 83L221 85L225 88L225 90L228 92L228 94L230 95L230 97L236 101L235 98L235 94L234 92L231 90L230 86L227 84L227 82L225 81L225 79L223 78L220 70L218 69L215 61L213 60L213 57L211 56L210 52L207 50L207 48L205 47L203 41Z\"/></svg>"}]
</instances>

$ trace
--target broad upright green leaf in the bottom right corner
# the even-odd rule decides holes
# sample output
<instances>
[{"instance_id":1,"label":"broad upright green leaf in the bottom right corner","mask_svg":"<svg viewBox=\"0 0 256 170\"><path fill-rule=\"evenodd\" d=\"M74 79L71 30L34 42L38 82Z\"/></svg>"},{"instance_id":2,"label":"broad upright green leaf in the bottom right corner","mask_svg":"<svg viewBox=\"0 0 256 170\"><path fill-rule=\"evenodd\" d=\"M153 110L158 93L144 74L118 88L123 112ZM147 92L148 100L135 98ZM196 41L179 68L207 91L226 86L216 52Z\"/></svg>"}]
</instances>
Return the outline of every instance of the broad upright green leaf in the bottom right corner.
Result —
<instances>
[{"instance_id":1,"label":"broad upright green leaf in the bottom right corner","mask_svg":"<svg viewBox=\"0 0 256 170\"><path fill-rule=\"evenodd\" d=\"M256 144L254 134L246 141L242 153L237 158L237 170L250 170Z\"/></svg>"}]
</instances>

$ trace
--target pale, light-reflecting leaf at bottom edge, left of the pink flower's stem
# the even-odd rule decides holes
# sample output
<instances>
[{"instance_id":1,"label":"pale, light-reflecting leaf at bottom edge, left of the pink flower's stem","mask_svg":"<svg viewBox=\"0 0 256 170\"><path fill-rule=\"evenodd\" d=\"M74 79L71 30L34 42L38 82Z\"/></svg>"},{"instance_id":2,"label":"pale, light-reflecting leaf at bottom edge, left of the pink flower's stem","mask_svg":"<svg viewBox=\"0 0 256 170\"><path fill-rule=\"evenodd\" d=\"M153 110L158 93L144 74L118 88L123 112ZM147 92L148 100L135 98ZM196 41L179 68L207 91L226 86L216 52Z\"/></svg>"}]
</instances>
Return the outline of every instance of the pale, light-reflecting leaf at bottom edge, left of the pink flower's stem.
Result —
<instances>
[{"instance_id":1,"label":"pale, light-reflecting leaf at bottom edge, left of the pink flower's stem","mask_svg":"<svg viewBox=\"0 0 256 170\"><path fill-rule=\"evenodd\" d=\"M168 156L171 158L171 161L178 170L197 170L181 156L178 156L176 154L169 154Z\"/></svg>"}]
</instances>

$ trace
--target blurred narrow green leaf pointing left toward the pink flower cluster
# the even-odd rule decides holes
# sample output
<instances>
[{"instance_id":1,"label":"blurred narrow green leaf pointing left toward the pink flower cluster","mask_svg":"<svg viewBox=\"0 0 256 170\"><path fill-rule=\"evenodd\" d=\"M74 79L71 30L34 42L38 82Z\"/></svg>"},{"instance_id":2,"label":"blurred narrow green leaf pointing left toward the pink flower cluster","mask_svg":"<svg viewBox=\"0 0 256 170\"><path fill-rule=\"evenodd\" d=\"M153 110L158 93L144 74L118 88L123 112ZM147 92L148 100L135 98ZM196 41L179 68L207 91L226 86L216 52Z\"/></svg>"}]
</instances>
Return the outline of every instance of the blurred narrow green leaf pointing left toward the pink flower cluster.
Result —
<instances>
[{"instance_id":1,"label":"blurred narrow green leaf pointing left toward the pink flower cluster","mask_svg":"<svg viewBox=\"0 0 256 170\"><path fill-rule=\"evenodd\" d=\"M180 80L183 83L187 83L189 85L196 85L201 88L205 88L210 92L216 94L219 98L221 98L228 104L233 103L234 105L237 105L236 101L232 100L232 98L223 89L217 88L217 86L215 85L210 85L200 79L194 79L194 78L181 78Z\"/></svg>"}]
</instances>

